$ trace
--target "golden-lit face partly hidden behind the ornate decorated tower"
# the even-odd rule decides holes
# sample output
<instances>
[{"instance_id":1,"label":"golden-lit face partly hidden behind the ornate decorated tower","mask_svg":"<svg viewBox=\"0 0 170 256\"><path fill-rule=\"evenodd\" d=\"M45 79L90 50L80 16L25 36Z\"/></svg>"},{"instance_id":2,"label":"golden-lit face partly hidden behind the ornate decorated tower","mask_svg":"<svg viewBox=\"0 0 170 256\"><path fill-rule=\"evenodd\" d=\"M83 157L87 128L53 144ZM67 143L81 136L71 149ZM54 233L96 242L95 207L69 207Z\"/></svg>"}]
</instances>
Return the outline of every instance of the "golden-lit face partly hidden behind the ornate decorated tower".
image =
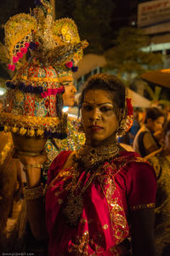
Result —
<instances>
[{"instance_id":1,"label":"golden-lit face partly hidden behind the ornate decorated tower","mask_svg":"<svg viewBox=\"0 0 170 256\"><path fill-rule=\"evenodd\" d=\"M73 79L65 79L62 84L65 86L65 92L63 94L64 106L74 106L75 94L77 92L76 87L73 84Z\"/></svg>"}]
</instances>

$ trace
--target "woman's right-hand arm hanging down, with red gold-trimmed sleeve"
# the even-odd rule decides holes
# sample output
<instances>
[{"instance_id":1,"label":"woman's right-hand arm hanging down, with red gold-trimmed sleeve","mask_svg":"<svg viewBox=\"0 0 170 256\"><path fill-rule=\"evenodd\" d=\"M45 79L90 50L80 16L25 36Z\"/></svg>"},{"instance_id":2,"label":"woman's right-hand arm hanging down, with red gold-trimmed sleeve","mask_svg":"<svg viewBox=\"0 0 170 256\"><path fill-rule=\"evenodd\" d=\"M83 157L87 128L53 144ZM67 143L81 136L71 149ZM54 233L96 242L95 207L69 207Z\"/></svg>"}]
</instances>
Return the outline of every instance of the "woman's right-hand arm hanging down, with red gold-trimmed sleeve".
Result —
<instances>
[{"instance_id":1,"label":"woman's right-hand arm hanging down, with red gold-trimmed sleeve","mask_svg":"<svg viewBox=\"0 0 170 256\"><path fill-rule=\"evenodd\" d=\"M146 162L132 163L127 173L127 201L132 226L133 256L155 256L153 234L156 173Z\"/></svg>"}]
</instances>

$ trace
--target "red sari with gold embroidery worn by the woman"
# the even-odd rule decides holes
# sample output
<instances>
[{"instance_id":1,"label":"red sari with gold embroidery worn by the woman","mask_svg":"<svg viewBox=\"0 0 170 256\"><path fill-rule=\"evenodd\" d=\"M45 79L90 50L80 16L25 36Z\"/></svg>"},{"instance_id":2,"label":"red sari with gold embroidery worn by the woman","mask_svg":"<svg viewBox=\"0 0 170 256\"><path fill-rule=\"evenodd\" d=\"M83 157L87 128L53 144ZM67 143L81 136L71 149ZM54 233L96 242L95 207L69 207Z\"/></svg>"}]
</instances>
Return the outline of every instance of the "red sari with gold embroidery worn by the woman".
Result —
<instances>
[{"instance_id":1,"label":"red sari with gold embroidery worn by the woman","mask_svg":"<svg viewBox=\"0 0 170 256\"><path fill-rule=\"evenodd\" d=\"M78 224L71 226L62 211L76 172L73 167L62 169L70 154L71 151L61 152L48 171L49 255L128 255L124 244L129 236L129 212L154 207L156 201L153 168L132 152L122 152L110 163L105 161L82 194ZM92 174L79 172L79 192Z\"/></svg>"}]
</instances>

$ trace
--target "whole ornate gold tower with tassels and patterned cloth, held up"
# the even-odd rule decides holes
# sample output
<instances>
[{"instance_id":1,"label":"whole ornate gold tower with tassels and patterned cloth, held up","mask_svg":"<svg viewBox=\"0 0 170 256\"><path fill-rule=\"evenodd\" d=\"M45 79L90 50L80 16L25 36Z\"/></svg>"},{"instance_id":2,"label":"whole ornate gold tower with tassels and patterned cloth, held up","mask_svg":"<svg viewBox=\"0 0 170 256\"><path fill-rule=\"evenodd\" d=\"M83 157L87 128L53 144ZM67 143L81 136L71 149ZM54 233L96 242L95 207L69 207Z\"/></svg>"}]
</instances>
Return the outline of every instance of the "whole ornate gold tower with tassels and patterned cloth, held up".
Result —
<instances>
[{"instance_id":1,"label":"whole ornate gold tower with tassels and patterned cloth, held up","mask_svg":"<svg viewBox=\"0 0 170 256\"><path fill-rule=\"evenodd\" d=\"M53 20L46 0L35 1L30 15L11 17L5 25L8 68L15 71L30 50L29 61L21 64L8 87L0 113L0 130L28 137L66 137L66 116L61 112L64 79L72 79L82 49L77 26L71 19Z\"/></svg>"}]
</instances>

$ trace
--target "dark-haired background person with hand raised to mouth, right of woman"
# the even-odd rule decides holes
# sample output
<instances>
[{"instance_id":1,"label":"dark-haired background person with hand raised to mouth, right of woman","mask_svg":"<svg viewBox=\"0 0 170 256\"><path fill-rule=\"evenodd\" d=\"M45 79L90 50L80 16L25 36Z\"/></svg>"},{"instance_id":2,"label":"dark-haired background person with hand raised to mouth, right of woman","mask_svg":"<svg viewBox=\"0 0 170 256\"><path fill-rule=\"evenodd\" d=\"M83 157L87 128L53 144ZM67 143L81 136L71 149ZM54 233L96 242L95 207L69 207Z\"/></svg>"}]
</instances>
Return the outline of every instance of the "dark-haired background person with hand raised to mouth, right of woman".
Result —
<instances>
[{"instance_id":1,"label":"dark-haired background person with hand raised to mouth, right of woman","mask_svg":"<svg viewBox=\"0 0 170 256\"><path fill-rule=\"evenodd\" d=\"M133 141L135 152L144 157L161 148L164 121L164 115L159 108L146 109L144 125L139 129Z\"/></svg>"}]
</instances>

